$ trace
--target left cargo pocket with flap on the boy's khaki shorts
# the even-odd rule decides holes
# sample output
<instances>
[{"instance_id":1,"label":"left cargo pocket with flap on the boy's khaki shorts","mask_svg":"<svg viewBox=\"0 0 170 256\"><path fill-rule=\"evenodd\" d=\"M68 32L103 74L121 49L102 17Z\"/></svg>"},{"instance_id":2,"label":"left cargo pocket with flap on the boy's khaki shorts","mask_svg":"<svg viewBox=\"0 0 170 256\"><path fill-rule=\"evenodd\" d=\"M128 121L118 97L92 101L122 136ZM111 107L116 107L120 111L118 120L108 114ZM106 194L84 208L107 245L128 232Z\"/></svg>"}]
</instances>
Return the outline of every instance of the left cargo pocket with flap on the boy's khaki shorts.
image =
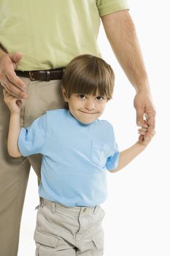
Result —
<instances>
[{"instance_id":1,"label":"left cargo pocket with flap on the boy's khaki shorts","mask_svg":"<svg viewBox=\"0 0 170 256\"><path fill-rule=\"evenodd\" d=\"M35 231L36 256L53 256L54 249L60 245L61 238L46 233Z\"/></svg>"}]
</instances>

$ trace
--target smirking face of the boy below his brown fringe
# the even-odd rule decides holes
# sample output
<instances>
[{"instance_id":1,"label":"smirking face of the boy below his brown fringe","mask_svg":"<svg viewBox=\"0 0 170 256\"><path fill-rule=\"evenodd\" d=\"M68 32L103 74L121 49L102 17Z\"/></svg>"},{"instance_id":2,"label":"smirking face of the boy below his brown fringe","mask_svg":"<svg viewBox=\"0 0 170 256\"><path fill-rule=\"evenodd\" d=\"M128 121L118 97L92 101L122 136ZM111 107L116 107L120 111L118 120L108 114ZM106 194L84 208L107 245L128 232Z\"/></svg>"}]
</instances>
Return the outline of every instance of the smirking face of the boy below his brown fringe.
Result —
<instances>
[{"instance_id":1,"label":"smirking face of the boy below his brown fringe","mask_svg":"<svg viewBox=\"0 0 170 256\"><path fill-rule=\"evenodd\" d=\"M68 102L72 116L83 124L90 124L101 116L107 103L107 97L98 94L72 94L67 98L63 91L63 98Z\"/></svg>"}]
</instances>

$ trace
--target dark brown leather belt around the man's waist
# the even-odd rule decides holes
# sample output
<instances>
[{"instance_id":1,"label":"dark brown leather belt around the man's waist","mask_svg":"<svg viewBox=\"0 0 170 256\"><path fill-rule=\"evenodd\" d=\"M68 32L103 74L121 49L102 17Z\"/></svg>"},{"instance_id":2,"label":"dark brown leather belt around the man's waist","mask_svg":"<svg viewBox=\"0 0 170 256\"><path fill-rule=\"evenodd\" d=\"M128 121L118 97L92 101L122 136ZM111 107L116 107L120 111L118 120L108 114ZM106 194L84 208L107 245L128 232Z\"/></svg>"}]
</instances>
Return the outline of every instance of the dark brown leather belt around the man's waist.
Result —
<instances>
[{"instance_id":1,"label":"dark brown leather belt around the man's waist","mask_svg":"<svg viewBox=\"0 0 170 256\"><path fill-rule=\"evenodd\" d=\"M50 80L61 80L63 76L63 68L60 69L49 69L49 70L33 70L33 71L20 71L15 70L16 75L29 78L31 81L34 80L42 80L42 81L50 81Z\"/></svg>"}]
</instances>

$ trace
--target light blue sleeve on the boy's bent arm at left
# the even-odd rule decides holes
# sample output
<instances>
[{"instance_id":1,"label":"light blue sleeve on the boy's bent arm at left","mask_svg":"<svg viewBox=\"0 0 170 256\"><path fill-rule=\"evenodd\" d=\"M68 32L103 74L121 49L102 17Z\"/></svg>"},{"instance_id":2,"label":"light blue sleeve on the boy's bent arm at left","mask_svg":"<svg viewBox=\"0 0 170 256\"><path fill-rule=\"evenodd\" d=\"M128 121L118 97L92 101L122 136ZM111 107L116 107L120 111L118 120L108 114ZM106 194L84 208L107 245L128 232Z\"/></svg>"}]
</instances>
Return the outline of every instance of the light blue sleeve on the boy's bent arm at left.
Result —
<instances>
[{"instance_id":1,"label":"light blue sleeve on the boy's bent arm at left","mask_svg":"<svg viewBox=\"0 0 170 256\"><path fill-rule=\"evenodd\" d=\"M37 118L28 128L21 128L18 147L23 157L42 152L47 132L47 114Z\"/></svg>"}]
</instances>

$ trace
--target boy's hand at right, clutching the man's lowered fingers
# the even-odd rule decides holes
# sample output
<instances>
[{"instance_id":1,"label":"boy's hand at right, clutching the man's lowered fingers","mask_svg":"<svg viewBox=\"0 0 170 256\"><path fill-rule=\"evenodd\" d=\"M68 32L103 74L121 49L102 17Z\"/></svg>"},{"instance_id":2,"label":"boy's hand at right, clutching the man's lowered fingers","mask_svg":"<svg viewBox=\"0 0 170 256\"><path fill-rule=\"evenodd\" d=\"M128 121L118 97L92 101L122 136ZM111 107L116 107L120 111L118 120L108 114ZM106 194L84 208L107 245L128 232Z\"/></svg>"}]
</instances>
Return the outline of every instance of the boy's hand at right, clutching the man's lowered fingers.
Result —
<instances>
[{"instance_id":1,"label":"boy's hand at right, clutching the man's lowered fingers","mask_svg":"<svg viewBox=\"0 0 170 256\"><path fill-rule=\"evenodd\" d=\"M142 125L142 128L138 129L139 133L139 143L142 144L143 146L147 146L147 144L150 143L150 140L152 140L153 136L155 135L155 130L153 129L152 132L150 132L147 135L147 129L149 128L149 125L147 124L147 121L144 121L144 124ZM146 137L147 135L147 137ZM141 138L143 139L141 140Z\"/></svg>"}]
</instances>

